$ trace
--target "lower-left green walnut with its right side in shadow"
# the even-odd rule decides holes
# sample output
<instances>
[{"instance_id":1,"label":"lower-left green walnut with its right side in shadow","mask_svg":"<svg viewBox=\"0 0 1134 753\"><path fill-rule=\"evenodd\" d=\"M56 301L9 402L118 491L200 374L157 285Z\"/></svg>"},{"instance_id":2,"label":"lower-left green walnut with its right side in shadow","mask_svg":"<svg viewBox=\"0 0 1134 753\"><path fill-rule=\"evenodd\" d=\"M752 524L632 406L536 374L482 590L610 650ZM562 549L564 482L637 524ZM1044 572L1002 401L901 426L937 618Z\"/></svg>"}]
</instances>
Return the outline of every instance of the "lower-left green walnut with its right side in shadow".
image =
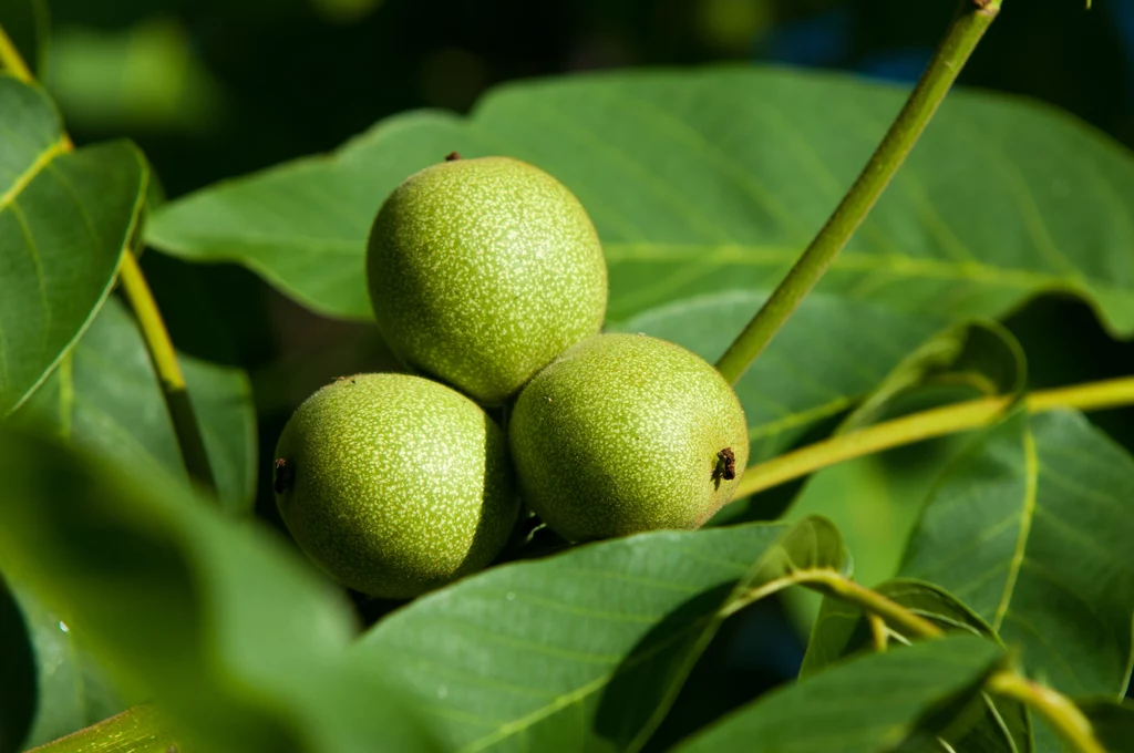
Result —
<instances>
[{"instance_id":1,"label":"lower-left green walnut with its right side in shadow","mask_svg":"<svg viewBox=\"0 0 1134 753\"><path fill-rule=\"evenodd\" d=\"M276 457L276 502L296 542L375 597L415 597L481 569L518 515L503 432L418 376L358 374L320 389Z\"/></svg>"}]
</instances>

